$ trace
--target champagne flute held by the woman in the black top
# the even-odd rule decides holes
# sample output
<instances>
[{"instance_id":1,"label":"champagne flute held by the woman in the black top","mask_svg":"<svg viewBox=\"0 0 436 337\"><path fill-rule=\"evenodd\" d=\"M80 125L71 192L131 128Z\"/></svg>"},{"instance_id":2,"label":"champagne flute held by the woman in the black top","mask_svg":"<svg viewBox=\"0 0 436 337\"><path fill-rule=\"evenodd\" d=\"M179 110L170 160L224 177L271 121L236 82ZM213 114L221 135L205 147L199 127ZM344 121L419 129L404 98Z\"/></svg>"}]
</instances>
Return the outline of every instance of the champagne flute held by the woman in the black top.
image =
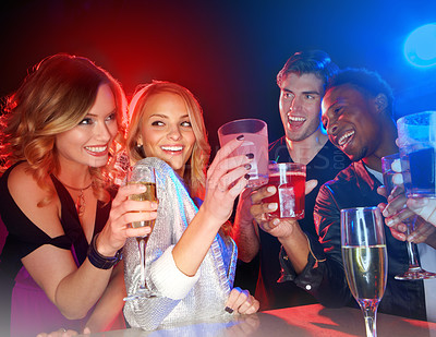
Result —
<instances>
[{"instance_id":1,"label":"champagne flute held by the woman in the black top","mask_svg":"<svg viewBox=\"0 0 436 337\"><path fill-rule=\"evenodd\" d=\"M140 194L131 194L129 195L130 200L134 201L156 201L156 176L155 169L153 167L136 164L133 168L128 170L126 176L128 184L144 184L147 186L147 190ZM155 227L156 219L153 220L142 220L142 221L133 221L131 225L133 228L146 227L149 226L153 230ZM140 254L141 254L141 285L138 290L124 298L124 301L133 300L147 294L152 297L148 292L146 281L145 281L145 248L147 245L149 234L144 237L136 237L136 241L138 243Z\"/></svg>"}]
</instances>

